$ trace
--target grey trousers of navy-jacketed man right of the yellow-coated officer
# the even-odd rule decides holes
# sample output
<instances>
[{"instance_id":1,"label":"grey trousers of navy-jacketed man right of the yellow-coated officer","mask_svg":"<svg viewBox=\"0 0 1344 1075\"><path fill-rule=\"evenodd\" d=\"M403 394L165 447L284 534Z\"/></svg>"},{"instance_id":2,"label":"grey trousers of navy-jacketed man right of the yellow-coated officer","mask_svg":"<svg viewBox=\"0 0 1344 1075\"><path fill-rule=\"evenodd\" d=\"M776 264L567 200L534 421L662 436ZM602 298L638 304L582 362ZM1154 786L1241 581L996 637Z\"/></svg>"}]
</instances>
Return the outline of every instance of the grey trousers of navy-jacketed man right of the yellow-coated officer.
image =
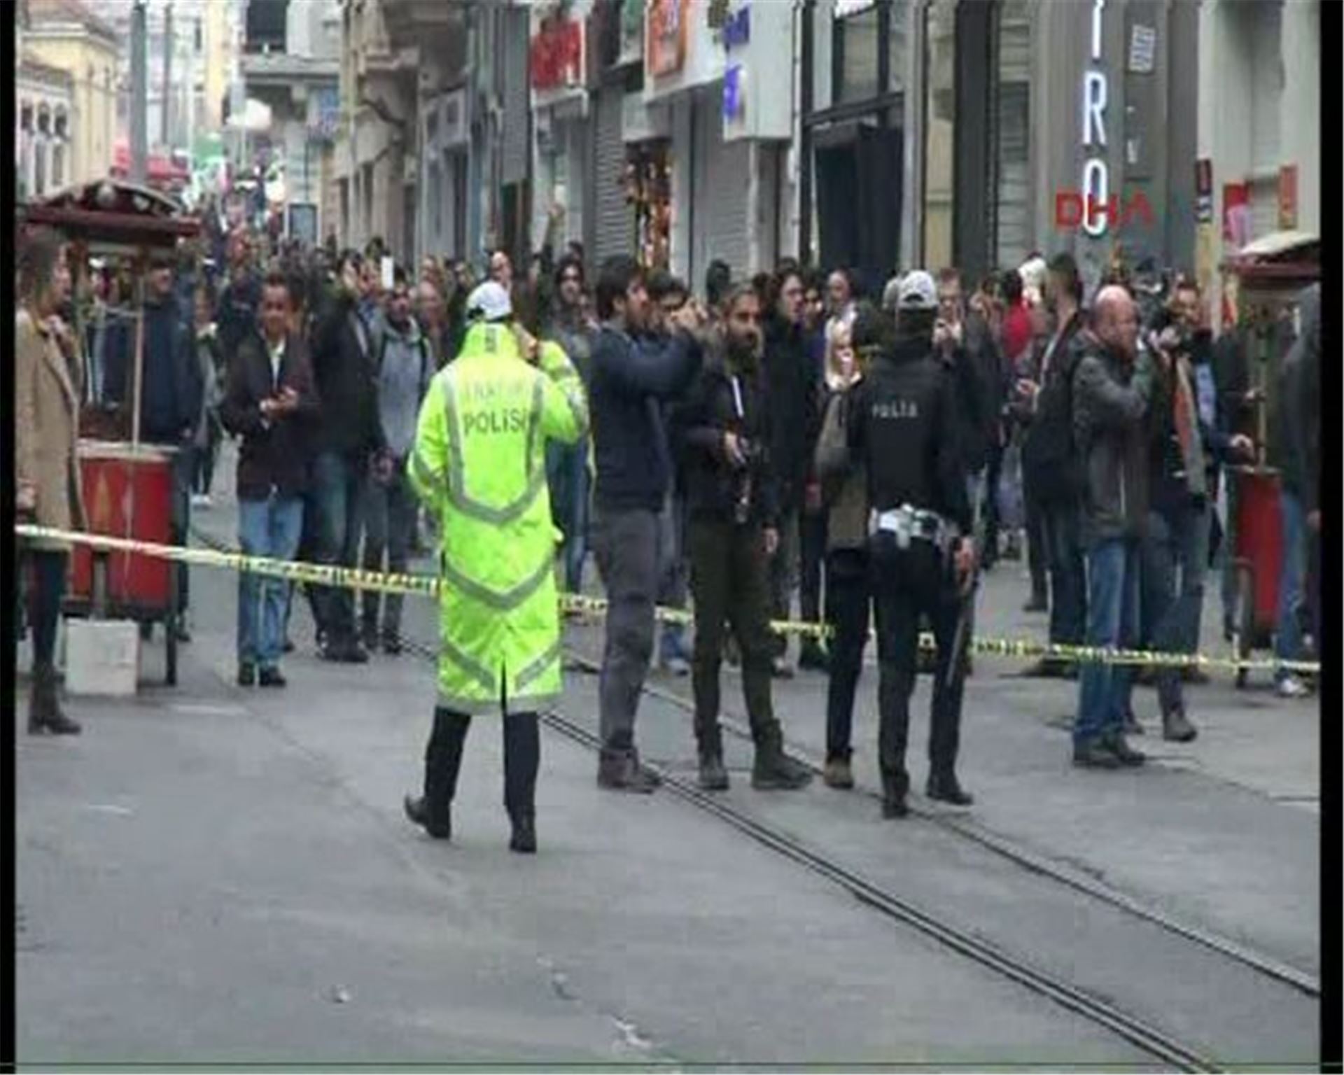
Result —
<instances>
[{"instance_id":1,"label":"grey trousers of navy-jacketed man right of the yellow-coated officer","mask_svg":"<svg viewBox=\"0 0 1344 1075\"><path fill-rule=\"evenodd\" d=\"M657 512L598 508L593 513L593 551L607 601L598 724L609 755L634 750L634 715L653 656L659 544Z\"/></svg>"}]
</instances>

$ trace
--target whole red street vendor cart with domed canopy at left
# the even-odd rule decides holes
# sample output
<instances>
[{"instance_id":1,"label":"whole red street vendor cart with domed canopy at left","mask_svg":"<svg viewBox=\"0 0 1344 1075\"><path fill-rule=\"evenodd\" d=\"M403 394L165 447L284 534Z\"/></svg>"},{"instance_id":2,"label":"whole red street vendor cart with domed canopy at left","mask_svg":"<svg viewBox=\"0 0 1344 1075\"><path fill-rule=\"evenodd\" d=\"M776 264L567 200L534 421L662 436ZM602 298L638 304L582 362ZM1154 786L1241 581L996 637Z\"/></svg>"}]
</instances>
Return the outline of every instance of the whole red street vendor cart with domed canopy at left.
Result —
<instances>
[{"instance_id":1,"label":"whole red street vendor cart with domed canopy at left","mask_svg":"<svg viewBox=\"0 0 1344 1075\"><path fill-rule=\"evenodd\" d=\"M31 204L24 224L51 227L71 243L75 294L90 257L129 259L136 281L134 343L122 404L86 399L79 415L79 474L89 529L132 540L172 544L176 449L140 443L144 392L144 300L149 255L173 250L200 230L177 203L157 191L116 180L74 187ZM79 318L77 302L77 320ZM83 327L77 324L77 339ZM85 378L86 384L89 378ZM66 615L134 619L145 629L161 622L167 681L177 681L177 571L169 560L129 552L94 552L75 546Z\"/></svg>"}]
</instances>

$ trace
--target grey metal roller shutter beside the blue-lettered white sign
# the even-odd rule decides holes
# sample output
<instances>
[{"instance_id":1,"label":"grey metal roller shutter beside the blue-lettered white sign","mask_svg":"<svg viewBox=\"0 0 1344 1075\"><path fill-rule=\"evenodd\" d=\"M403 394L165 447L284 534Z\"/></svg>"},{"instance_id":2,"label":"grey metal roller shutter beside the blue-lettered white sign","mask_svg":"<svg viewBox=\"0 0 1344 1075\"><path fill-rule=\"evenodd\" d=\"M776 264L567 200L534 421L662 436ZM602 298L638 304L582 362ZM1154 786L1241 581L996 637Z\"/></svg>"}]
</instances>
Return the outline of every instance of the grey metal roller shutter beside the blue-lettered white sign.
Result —
<instances>
[{"instance_id":1,"label":"grey metal roller shutter beside the blue-lettered white sign","mask_svg":"<svg viewBox=\"0 0 1344 1075\"><path fill-rule=\"evenodd\" d=\"M691 273L704 278L710 262L719 258L732 269L732 278L747 273L751 258L747 232L751 157L745 141L723 141L719 90L698 94L695 101L695 198L694 251Z\"/></svg>"}]
</instances>

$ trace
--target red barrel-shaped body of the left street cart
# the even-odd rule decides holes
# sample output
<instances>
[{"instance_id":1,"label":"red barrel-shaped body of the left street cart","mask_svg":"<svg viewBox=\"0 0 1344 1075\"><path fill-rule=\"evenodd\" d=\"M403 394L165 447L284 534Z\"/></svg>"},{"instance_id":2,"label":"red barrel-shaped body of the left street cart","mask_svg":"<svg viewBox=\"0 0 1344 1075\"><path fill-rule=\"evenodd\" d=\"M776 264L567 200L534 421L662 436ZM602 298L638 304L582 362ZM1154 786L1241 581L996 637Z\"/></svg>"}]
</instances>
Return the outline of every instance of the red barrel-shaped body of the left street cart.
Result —
<instances>
[{"instance_id":1,"label":"red barrel-shaped body of the left street cart","mask_svg":"<svg viewBox=\"0 0 1344 1075\"><path fill-rule=\"evenodd\" d=\"M106 441L79 442L79 477L89 529L113 538L172 544L173 449ZM93 599L93 554L77 546L71 593ZM112 609L161 618L169 610L173 564L130 552L108 555L108 603Z\"/></svg>"}]
</instances>

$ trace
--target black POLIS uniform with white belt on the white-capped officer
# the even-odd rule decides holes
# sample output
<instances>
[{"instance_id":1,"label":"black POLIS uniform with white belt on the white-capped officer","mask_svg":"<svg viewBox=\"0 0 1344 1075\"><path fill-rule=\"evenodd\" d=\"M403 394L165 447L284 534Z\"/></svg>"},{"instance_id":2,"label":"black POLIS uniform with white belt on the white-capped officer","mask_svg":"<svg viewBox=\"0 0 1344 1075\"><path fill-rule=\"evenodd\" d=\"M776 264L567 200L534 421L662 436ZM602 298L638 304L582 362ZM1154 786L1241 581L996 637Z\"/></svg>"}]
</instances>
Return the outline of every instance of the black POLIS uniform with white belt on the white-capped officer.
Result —
<instances>
[{"instance_id":1,"label":"black POLIS uniform with white belt on the white-capped officer","mask_svg":"<svg viewBox=\"0 0 1344 1075\"><path fill-rule=\"evenodd\" d=\"M868 478L886 817L906 813L906 739L921 615L938 646L927 794L970 802L956 777L969 632L958 630L964 602L954 552L961 535L970 535L972 513L956 435L954 371L934 353L933 313L899 316L895 343L851 394L848 421L849 457L866 466Z\"/></svg>"}]
</instances>

